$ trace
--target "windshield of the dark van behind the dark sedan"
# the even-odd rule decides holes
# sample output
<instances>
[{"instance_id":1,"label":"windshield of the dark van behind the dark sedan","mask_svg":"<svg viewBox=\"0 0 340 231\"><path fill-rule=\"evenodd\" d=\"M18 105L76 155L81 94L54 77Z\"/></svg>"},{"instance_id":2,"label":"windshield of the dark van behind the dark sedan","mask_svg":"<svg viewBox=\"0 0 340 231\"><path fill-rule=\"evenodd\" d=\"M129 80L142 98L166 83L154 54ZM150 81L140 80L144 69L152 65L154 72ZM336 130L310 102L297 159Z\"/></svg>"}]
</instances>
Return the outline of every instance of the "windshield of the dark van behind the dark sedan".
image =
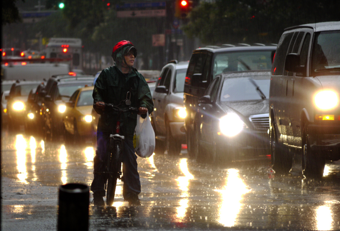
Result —
<instances>
[{"instance_id":1,"label":"windshield of the dark van behind the dark sedan","mask_svg":"<svg viewBox=\"0 0 340 231\"><path fill-rule=\"evenodd\" d=\"M272 51L246 51L220 53L214 60L214 77L223 72L270 70Z\"/></svg>"}]
</instances>

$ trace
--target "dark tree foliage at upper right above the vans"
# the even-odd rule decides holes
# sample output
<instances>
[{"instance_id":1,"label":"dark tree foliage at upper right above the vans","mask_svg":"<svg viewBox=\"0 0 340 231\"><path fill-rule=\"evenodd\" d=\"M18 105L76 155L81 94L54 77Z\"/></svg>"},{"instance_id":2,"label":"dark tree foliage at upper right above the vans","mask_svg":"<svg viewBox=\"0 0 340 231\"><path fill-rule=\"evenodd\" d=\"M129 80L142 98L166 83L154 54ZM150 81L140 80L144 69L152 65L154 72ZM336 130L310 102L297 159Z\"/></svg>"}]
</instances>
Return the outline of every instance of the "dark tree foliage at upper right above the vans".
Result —
<instances>
[{"instance_id":1,"label":"dark tree foliage at upper right above the vans","mask_svg":"<svg viewBox=\"0 0 340 231\"><path fill-rule=\"evenodd\" d=\"M182 29L206 44L276 43L289 26L339 21L338 9L338 0L216 0L195 7Z\"/></svg>"}]
</instances>

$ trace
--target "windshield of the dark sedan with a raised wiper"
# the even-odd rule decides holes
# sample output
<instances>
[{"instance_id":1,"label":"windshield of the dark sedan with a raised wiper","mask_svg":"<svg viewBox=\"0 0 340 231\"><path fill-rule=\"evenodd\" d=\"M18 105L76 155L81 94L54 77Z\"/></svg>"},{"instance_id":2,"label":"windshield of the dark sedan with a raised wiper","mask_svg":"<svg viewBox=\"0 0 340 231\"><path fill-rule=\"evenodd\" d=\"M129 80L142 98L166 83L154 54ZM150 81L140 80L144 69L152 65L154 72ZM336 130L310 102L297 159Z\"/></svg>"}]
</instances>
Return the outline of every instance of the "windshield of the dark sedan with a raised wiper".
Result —
<instances>
[{"instance_id":1,"label":"windshield of the dark sedan with a raised wiper","mask_svg":"<svg viewBox=\"0 0 340 231\"><path fill-rule=\"evenodd\" d=\"M250 81L251 80L251 81ZM256 85L254 84L256 83ZM263 93L266 98L269 96L269 78L241 77L241 78L225 78L221 90L221 98L223 101L243 101L243 100L261 100L264 98L259 94ZM259 90L257 89L259 88Z\"/></svg>"}]
</instances>

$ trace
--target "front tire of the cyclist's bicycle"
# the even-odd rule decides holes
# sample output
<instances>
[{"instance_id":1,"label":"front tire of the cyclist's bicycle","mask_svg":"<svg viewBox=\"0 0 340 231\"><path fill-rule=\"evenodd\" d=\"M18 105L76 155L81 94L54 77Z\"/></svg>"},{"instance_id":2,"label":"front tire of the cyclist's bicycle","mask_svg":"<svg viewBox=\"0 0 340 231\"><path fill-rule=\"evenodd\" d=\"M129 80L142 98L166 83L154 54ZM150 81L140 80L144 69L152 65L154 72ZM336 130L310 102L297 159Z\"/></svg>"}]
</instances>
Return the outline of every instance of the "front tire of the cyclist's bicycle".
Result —
<instances>
[{"instance_id":1,"label":"front tire of the cyclist's bicycle","mask_svg":"<svg viewBox=\"0 0 340 231\"><path fill-rule=\"evenodd\" d=\"M122 145L119 145L117 141L110 140L110 148L112 150L111 158L108 156L108 178L107 178L107 191L106 191L106 205L111 206L115 199L115 192L117 186L118 172L121 167L121 158L119 154L123 151Z\"/></svg>"}]
</instances>

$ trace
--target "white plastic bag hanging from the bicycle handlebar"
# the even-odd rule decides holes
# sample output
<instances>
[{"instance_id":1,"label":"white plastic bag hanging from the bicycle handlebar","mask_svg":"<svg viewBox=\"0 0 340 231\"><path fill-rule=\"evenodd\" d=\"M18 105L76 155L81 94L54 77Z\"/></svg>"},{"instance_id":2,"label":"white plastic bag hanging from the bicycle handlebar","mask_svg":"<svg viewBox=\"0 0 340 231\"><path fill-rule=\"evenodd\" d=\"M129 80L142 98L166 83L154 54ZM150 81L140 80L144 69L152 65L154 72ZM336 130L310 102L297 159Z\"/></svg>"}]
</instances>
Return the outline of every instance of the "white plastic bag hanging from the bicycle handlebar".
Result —
<instances>
[{"instance_id":1,"label":"white plastic bag hanging from the bicycle handlebar","mask_svg":"<svg viewBox=\"0 0 340 231\"><path fill-rule=\"evenodd\" d=\"M148 158L155 151L155 132L151 126L149 114L143 119L137 116L137 125L133 136L133 146L138 156Z\"/></svg>"}]
</instances>

